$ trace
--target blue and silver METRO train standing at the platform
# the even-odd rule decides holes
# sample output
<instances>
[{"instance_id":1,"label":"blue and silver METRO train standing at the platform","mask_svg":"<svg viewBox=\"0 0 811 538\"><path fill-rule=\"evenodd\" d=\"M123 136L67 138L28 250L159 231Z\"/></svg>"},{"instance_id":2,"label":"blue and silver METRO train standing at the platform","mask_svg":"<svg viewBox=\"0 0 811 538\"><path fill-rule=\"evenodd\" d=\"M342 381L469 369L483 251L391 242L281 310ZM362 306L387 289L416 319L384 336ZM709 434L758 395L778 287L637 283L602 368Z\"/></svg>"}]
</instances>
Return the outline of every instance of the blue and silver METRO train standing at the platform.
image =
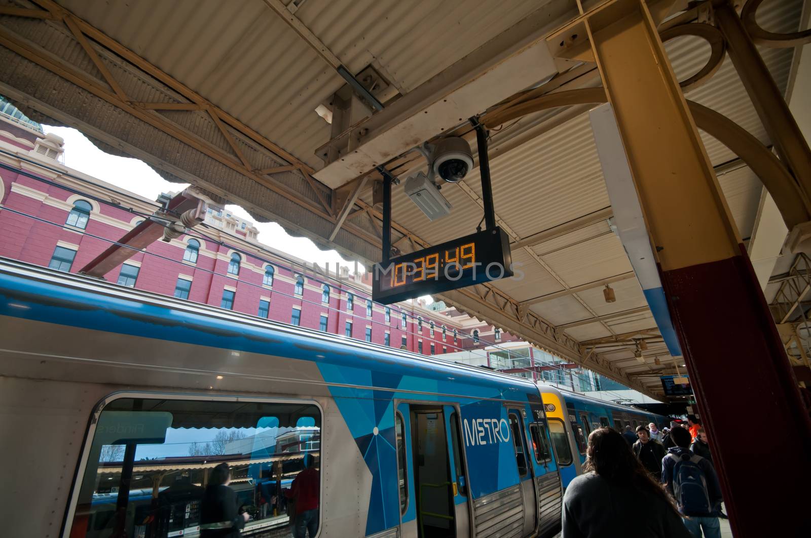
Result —
<instances>
[{"instance_id":1,"label":"blue and silver METRO train standing at the platform","mask_svg":"<svg viewBox=\"0 0 811 538\"><path fill-rule=\"evenodd\" d=\"M243 534L285 536L305 454L319 536L552 536L590 431L664 421L2 258L0 342L7 536L195 536L194 506L160 528L155 507L223 460L255 505Z\"/></svg>"}]
</instances>

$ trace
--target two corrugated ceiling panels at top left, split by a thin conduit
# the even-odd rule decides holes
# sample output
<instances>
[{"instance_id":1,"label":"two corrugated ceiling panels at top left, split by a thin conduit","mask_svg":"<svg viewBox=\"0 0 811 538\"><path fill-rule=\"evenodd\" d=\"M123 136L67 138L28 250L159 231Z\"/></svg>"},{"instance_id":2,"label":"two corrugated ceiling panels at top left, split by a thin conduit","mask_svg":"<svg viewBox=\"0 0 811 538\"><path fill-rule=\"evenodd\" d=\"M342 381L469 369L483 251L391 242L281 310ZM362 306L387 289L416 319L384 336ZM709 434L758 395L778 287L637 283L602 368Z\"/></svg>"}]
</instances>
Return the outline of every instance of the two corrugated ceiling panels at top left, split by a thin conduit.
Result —
<instances>
[{"instance_id":1,"label":"two corrugated ceiling panels at top left, split by a thin conduit","mask_svg":"<svg viewBox=\"0 0 811 538\"><path fill-rule=\"evenodd\" d=\"M330 126L315 107L345 81L261 0L59 3L320 168ZM351 72L375 60L409 92L546 3L307 0L295 16Z\"/></svg>"}]
</instances>

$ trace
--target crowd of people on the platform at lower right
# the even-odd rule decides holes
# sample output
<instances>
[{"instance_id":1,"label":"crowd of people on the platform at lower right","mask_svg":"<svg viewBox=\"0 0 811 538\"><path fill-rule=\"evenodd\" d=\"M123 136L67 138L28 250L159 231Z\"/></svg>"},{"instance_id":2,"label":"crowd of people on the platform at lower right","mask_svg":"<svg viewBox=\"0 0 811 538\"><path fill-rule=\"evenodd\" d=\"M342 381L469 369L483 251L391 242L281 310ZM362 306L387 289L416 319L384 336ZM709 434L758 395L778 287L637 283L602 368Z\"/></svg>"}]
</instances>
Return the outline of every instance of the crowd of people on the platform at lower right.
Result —
<instances>
[{"instance_id":1,"label":"crowd of people on the platform at lower right","mask_svg":"<svg viewBox=\"0 0 811 538\"><path fill-rule=\"evenodd\" d=\"M583 471L564 494L563 538L629 536L629 522L639 536L721 536L721 487L695 416L662 429L595 429Z\"/></svg>"}]
</instances>

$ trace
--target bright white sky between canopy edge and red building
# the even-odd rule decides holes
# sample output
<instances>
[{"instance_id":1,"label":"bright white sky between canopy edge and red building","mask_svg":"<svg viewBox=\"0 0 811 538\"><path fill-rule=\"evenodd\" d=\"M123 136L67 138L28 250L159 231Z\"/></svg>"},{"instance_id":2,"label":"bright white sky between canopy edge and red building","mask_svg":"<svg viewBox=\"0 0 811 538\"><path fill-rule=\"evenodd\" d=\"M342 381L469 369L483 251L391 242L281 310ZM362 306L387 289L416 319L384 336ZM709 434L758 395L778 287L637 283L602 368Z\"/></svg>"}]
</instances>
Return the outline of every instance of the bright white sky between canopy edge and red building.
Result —
<instances>
[{"instance_id":1,"label":"bright white sky between canopy edge and red building","mask_svg":"<svg viewBox=\"0 0 811 538\"><path fill-rule=\"evenodd\" d=\"M78 130L70 127L42 127L45 133L58 134L65 139L65 165L88 176L97 177L151 200L157 199L162 192L176 192L188 186L185 183L166 181L142 160L102 152ZM306 237L293 237L275 222L255 222L242 207L226 205L225 208L234 216L253 222L259 230L259 241L264 245L272 246L307 262L318 263L320 267L324 267L326 263L335 267L336 263L340 263L354 271L354 261L341 257L335 250L320 250ZM363 271L365 271L363 264L358 263L358 272ZM428 302L431 302L430 297Z\"/></svg>"}]
</instances>

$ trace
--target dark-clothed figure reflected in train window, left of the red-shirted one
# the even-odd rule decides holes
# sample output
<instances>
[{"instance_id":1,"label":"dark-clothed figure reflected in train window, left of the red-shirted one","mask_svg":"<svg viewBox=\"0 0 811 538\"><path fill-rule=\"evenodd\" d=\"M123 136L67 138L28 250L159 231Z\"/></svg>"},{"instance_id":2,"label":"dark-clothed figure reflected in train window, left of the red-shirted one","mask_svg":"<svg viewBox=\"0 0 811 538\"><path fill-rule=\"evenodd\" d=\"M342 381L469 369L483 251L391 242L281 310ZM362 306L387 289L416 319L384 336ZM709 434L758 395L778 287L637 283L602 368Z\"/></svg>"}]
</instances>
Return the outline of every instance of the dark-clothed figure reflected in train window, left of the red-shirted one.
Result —
<instances>
[{"instance_id":1,"label":"dark-clothed figure reflected in train window, left of the red-shirted one","mask_svg":"<svg viewBox=\"0 0 811 538\"><path fill-rule=\"evenodd\" d=\"M200 538L238 538L248 520L239 513L237 493L230 489L231 470L220 463L208 475L208 487L200 503Z\"/></svg>"}]
</instances>

